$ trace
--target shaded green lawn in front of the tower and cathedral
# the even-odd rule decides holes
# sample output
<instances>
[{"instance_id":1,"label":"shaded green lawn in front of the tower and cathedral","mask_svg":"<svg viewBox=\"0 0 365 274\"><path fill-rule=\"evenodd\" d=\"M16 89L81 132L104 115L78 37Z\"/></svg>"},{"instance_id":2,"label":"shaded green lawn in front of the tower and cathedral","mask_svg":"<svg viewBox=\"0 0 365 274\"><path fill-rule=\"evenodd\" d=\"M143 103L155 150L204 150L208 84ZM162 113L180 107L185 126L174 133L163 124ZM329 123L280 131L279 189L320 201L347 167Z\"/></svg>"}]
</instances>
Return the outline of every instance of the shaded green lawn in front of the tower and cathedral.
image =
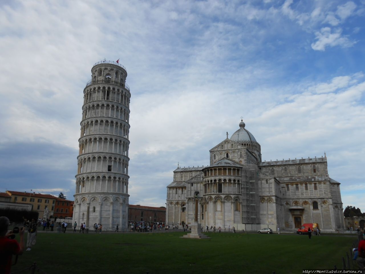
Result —
<instances>
[{"instance_id":1,"label":"shaded green lawn in front of the tower and cathedral","mask_svg":"<svg viewBox=\"0 0 365 274\"><path fill-rule=\"evenodd\" d=\"M183 239L166 233L38 233L12 272L33 262L57 273L302 273L342 267L355 236L209 233L211 239ZM18 236L19 237L19 236ZM22 271L20 273L29 273ZM38 272L36 272L38 273Z\"/></svg>"}]
</instances>

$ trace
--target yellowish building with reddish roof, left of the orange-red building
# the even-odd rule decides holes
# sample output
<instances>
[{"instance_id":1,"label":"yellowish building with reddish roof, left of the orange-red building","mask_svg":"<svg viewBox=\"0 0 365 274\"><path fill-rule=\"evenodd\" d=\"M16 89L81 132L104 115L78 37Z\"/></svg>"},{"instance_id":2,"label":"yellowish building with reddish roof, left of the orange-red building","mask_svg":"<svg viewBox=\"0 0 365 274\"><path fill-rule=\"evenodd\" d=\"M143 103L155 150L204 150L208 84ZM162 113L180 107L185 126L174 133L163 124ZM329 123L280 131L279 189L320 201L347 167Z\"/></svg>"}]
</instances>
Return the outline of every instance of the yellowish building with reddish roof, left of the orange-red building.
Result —
<instances>
[{"instance_id":1,"label":"yellowish building with reddish roof, left of the orange-red building","mask_svg":"<svg viewBox=\"0 0 365 274\"><path fill-rule=\"evenodd\" d=\"M53 216L54 205L57 199L53 195L9 190L7 190L6 193L10 195L11 202L30 204L31 210L39 213L39 218L43 217L46 208L48 208L49 211L48 216Z\"/></svg>"}]
</instances>

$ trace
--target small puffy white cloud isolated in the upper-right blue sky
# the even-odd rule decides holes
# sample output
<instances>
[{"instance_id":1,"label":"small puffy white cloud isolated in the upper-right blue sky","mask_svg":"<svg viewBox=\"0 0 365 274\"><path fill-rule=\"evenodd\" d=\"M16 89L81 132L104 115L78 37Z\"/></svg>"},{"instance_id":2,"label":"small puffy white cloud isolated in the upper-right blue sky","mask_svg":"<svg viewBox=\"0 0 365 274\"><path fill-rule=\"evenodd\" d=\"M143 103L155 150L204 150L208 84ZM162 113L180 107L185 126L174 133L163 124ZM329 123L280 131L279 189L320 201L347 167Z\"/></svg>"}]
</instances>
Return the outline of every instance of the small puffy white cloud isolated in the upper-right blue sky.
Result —
<instances>
[{"instance_id":1,"label":"small puffy white cloud isolated in the upper-right blue sky","mask_svg":"<svg viewBox=\"0 0 365 274\"><path fill-rule=\"evenodd\" d=\"M330 27L321 28L320 31L316 32L316 41L312 43L312 49L324 51L327 46L341 46L341 47L352 47L356 41L350 41L347 37L341 37L342 29L338 28L332 33Z\"/></svg>"}]
</instances>

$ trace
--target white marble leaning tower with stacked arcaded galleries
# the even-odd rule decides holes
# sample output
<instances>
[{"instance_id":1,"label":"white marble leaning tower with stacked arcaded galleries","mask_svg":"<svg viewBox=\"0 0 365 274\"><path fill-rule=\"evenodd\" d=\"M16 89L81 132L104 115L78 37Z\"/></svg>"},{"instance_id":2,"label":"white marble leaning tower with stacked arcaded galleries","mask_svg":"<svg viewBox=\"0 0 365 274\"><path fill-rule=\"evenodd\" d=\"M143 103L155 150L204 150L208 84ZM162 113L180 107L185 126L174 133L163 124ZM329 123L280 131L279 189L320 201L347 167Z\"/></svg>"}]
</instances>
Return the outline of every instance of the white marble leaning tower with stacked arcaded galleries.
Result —
<instances>
[{"instance_id":1,"label":"white marble leaning tower with stacked arcaded galleries","mask_svg":"<svg viewBox=\"0 0 365 274\"><path fill-rule=\"evenodd\" d=\"M119 60L118 60L119 61ZM73 222L128 227L130 89L119 62L93 65L84 88Z\"/></svg>"}]
</instances>

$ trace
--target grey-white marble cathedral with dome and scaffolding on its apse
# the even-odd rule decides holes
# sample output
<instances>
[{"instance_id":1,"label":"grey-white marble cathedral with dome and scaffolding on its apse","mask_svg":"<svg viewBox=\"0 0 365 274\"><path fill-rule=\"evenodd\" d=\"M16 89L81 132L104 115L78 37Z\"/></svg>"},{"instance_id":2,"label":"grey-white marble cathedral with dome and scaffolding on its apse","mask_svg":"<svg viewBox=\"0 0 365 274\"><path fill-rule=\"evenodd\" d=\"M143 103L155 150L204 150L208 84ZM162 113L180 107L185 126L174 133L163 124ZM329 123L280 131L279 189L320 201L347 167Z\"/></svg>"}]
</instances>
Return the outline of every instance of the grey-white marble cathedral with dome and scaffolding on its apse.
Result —
<instances>
[{"instance_id":1,"label":"grey-white marble cathedral with dome and scaffolding on its apse","mask_svg":"<svg viewBox=\"0 0 365 274\"><path fill-rule=\"evenodd\" d=\"M262 161L261 146L245 128L210 150L210 165L178 167L167 186L166 223L228 231L277 228L295 231L318 223L322 231L345 228L340 183L327 157Z\"/></svg>"}]
</instances>

